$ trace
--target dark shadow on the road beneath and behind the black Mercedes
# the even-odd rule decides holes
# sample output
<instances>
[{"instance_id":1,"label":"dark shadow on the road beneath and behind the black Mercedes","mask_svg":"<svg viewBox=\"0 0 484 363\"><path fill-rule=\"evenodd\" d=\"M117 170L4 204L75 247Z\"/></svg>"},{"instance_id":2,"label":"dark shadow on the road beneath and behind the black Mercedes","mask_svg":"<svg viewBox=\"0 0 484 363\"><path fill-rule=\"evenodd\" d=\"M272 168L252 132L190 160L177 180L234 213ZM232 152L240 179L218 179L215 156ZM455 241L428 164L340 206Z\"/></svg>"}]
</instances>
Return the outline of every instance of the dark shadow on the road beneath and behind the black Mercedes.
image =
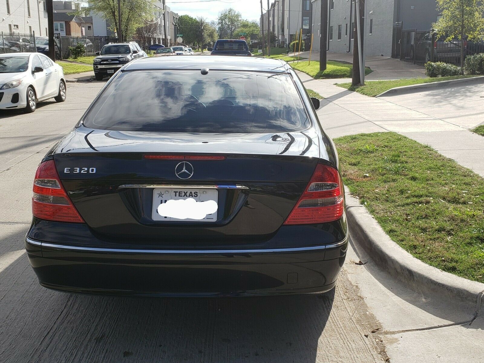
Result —
<instances>
[{"instance_id":1,"label":"dark shadow on the road beneath and behind the black Mercedes","mask_svg":"<svg viewBox=\"0 0 484 363\"><path fill-rule=\"evenodd\" d=\"M1 240L19 250L26 228L16 229ZM313 363L334 294L69 295L41 287L23 254L0 272L0 362ZM329 330L339 329L331 325Z\"/></svg>"}]
</instances>

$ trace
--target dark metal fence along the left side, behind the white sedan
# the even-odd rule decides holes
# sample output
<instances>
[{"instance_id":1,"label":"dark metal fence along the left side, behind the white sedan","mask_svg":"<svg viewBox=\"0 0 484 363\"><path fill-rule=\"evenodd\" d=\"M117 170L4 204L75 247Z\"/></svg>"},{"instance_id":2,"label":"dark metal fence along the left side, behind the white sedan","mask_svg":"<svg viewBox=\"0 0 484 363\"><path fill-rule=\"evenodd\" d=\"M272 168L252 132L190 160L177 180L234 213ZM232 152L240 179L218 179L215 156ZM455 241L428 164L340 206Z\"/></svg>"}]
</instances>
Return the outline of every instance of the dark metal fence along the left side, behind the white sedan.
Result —
<instances>
[{"instance_id":1,"label":"dark metal fence along the left side, behind the white sedan","mask_svg":"<svg viewBox=\"0 0 484 363\"><path fill-rule=\"evenodd\" d=\"M79 43L84 44L84 55L93 56L101 51L104 45L116 43L118 38L111 36L70 36L54 34L56 59L71 57L69 47ZM36 37L34 34L3 33L0 32L0 53L36 52L48 47L47 37Z\"/></svg>"}]
</instances>

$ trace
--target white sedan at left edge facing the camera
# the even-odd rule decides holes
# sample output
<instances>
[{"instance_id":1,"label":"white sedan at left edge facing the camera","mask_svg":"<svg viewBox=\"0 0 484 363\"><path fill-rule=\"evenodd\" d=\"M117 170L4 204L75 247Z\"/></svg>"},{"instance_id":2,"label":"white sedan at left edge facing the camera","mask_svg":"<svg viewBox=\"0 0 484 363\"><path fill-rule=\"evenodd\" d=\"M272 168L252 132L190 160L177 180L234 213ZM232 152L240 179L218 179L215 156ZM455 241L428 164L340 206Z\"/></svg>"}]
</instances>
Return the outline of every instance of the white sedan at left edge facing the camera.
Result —
<instances>
[{"instance_id":1,"label":"white sedan at left edge facing the camera","mask_svg":"<svg viewBox=\"0 0 484 363\"><path fill-rule=\"evenodd\" d=\"M0 109L33 112L37 102L55 98L64 102L62 67L40 53L0 54Z\"/></svg>"}]
</instances>

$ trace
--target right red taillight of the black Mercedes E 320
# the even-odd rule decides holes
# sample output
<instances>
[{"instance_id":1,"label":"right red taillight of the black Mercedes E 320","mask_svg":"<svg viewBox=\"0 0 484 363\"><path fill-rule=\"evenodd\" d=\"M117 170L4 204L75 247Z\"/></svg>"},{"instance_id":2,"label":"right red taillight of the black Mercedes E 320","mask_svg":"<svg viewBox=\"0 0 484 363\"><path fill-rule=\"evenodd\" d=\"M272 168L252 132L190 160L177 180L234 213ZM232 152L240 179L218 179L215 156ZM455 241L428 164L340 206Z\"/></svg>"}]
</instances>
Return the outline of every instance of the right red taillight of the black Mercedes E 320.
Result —
<instances>
[{"instance_id":1,"label":"right red taillight of the black Mercedes E 320","mask_svg":"<svg viewBox=\"0 0 484 363\"><path fill-rule=\"evenodd\" d=\"M343 183L338 170L318 164L304 193L284 222L305 225L333 222L343 215Z\"/></svg>"}]
</instances>

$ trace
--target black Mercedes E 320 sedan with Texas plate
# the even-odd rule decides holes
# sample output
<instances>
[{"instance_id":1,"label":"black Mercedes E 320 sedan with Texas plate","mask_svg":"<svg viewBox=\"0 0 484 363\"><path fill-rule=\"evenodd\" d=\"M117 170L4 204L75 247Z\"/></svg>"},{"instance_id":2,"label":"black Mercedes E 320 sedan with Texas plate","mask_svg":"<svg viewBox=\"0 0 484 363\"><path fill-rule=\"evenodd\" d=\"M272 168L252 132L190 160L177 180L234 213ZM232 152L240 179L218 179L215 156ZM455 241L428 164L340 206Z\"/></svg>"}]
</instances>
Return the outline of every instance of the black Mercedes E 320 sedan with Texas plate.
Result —
<instances>
[{"instance_id":1,"label":"black Mercedes E 320 sedan with Texas plate","mask_svg":"<svg viewBox=\"0 0 484 363\"><path fill-rule=\"evenodd\" d=\"M318 106L284 61L124 65L35 174L25 245L40 284L136 296L332 289L348 229Z\"/></svg>"}]
</instances>

